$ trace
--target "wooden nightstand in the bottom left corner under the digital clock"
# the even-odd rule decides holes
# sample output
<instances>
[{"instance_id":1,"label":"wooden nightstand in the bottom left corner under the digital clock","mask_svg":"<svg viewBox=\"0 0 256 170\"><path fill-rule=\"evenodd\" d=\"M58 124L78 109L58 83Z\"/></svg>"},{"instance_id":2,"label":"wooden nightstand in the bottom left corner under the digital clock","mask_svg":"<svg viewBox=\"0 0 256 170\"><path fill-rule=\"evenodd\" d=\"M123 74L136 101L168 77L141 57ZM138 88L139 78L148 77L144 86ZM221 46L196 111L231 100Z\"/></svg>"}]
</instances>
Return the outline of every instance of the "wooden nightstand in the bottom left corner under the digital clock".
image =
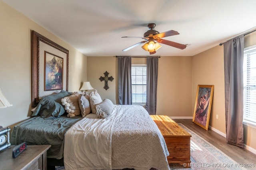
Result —
<instances>
[{"instance_id":1,"label":"wooden nightstand in the bottom left corner under the digital clock","mask_svg":"<svg viewBox=\"0 0 256 170\"><path fill-rule=\"evenodd\" d=\"M47 170L47 150L51 145L27 145L16 158L12 158L12 149L0 152L0 170Z\"/></svg>"}]
</instances>

